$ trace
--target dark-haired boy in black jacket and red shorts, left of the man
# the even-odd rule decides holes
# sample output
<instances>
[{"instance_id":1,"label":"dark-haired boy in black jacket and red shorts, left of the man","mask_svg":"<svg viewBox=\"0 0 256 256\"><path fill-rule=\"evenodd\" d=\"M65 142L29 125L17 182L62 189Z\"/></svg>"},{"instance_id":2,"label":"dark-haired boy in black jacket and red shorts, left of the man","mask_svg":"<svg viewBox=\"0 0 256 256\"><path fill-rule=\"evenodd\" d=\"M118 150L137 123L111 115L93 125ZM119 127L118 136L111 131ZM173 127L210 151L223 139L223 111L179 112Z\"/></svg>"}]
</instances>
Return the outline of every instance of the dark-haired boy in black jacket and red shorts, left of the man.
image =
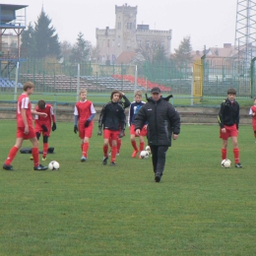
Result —
<instances>
[{"instance_id":1,"label":"dark-haired boy in black jacket and red shorts, left of the man","mask_svg":"<svg viewBox=\"0 0 256 256\"><path fill-rule=\"evenodd\" d=\"M97 135L102 134L102 126L103 126L103 136L104 136L104 144L103 144L103 160L102 163L105 165L108 160L108 143L109 139L112 139L112 151L111 151L111 163L110 165L115 166L115 157L117 152L117 139L121 138L124 135L125 130L125 113L124 108L119 103L120 93L118 91L114 91L111 93L111 101L106 103L100 112L99 120L98 120L98 132Z\"/></svg>"}]
</instances>

